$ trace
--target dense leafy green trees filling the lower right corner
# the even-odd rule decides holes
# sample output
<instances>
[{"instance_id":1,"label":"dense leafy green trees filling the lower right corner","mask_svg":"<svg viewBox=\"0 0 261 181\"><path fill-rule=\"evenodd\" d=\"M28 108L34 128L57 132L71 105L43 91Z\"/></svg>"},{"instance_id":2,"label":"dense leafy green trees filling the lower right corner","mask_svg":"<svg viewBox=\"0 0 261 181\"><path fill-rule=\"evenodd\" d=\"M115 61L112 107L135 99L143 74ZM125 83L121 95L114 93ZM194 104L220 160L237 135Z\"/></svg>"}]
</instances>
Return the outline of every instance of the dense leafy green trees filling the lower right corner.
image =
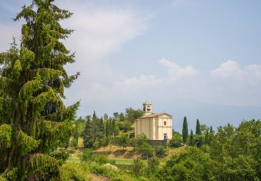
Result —
<instances>
[{"instance_id":1,"label":"dense leafy green trees filling the lower right corner","mask_svg":"<svg viewBox=\"0 0 261 181\"><path fill-rule=\"evenodd\" d=\"M159 180L261 179L260 120L220 126L209 135L208 142L171 157L159 171Z\"/></svg>"}]
</instances>

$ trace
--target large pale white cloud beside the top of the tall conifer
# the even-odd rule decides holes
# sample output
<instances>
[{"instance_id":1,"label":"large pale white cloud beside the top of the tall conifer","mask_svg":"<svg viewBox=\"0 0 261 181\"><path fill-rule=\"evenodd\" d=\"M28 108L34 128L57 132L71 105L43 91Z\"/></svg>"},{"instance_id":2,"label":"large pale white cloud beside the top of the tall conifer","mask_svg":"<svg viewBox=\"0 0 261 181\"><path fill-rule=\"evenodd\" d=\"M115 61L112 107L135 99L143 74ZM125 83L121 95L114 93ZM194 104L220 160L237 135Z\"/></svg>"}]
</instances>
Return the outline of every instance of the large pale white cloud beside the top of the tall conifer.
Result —
<instances>
[{"instance_id":1,"label":"large pale white cloud beside the top of the tall conifer","mask_svg":"<svg viewBox=\"0 0 261 181\"><path fill-rule=\"evenodd\" d=\"M66 1L65 5L74 15L63 25L76 30L67 40L68 45L86 57L85 63L102 61L146 29L147 19L132 8L104 8L77 1Z\"/></svg>"}]
</instances>

